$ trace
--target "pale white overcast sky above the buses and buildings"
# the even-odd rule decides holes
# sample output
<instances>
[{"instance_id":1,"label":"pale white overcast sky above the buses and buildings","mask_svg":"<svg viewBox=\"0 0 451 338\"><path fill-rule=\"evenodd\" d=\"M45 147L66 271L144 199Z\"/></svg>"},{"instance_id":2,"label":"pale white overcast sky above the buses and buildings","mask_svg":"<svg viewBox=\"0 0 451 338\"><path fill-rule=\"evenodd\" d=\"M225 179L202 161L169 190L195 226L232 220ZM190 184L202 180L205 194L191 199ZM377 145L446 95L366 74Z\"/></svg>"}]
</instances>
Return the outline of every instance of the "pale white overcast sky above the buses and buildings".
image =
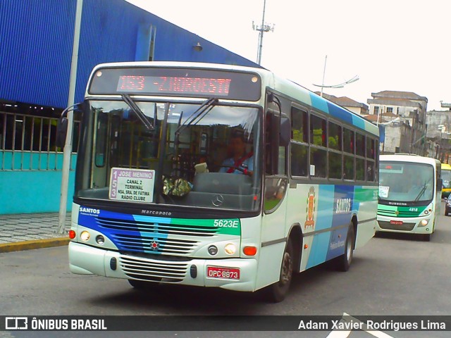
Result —
<instances>
[{"instance_id":1,"label":"pale white overcast sky above the buses and buildings","mask_svg":"<svg viewBox=\"0 0 451 338\"><path fill-rule=\"evenodd\" d=\"M127 0L219 46L257 61L264 0ZM266 0L261 65L319 91L367 104L372 92L428 98L428 111L451 103L450 0Z\"/></svg>"}]
</instances>

